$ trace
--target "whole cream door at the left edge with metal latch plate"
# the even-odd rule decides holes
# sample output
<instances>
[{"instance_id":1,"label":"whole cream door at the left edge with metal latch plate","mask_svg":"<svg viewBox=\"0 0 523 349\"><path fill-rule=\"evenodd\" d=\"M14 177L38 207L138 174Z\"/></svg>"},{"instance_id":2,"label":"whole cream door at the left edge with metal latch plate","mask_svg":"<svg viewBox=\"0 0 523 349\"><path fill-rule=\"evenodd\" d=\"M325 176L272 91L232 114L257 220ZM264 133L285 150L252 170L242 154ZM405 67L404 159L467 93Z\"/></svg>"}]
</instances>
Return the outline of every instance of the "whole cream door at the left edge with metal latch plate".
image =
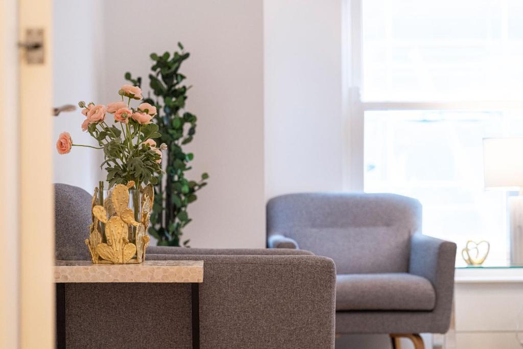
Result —
<instances>
[{"instance_id":1,"label":"whole cream door at the left edge with metal latch plate","mask_svg":"<svg viewBox=\"0 0 523 349\"><path fill-rule=\"evenodd\" d=\"M52 348L52 0L0 4L0 347ZM44 64L17 48L26 28L44 30Z\"/></svg>"}]
</instances>

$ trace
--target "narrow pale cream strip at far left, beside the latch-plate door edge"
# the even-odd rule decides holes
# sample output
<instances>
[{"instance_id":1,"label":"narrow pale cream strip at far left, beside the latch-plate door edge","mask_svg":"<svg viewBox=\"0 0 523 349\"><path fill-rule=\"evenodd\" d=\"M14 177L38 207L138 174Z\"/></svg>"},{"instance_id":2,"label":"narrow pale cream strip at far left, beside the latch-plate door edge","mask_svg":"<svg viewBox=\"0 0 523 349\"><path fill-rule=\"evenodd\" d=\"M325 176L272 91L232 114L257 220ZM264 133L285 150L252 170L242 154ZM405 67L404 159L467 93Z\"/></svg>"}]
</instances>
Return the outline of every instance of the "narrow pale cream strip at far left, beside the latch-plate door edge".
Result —
<instances>
[{"instance_id":1,"label":"narrow pale cream strip at far left, beside the latch-plate door edge","mask_svg":"<svg viewBox=\"0 0 523 349\"><path fill-rule=\"evenodd\" d=\"M16 0L3 0L0 8L0 347L16 348L18 343L18 21Z\"/></svg>"}]
</instances>

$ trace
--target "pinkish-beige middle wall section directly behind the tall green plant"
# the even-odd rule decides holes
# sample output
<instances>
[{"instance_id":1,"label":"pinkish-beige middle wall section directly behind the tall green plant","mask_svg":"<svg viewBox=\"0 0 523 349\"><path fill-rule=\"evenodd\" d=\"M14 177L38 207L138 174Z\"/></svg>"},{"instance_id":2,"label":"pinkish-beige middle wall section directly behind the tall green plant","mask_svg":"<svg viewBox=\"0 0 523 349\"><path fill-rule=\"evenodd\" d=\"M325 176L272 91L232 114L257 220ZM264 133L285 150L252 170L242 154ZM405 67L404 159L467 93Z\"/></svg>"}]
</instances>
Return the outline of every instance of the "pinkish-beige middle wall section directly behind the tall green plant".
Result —
<instances>
[{"instance_id":1,"label":"pinkish-beige middle wall section directly behind the tall green plant","mask_svg":"<svg viewBox=\"0 0 523 349\"><path fill-rule=\"evenodd\" d=\"M196 179L209 172L184 232L192 247L264 247L263 6L261 0L104 3L100 100L117 99L123 74L147 83L151 52L191 53L182 71L193 85L187 108L198 116Z\"/></svg>"}]
</instances>

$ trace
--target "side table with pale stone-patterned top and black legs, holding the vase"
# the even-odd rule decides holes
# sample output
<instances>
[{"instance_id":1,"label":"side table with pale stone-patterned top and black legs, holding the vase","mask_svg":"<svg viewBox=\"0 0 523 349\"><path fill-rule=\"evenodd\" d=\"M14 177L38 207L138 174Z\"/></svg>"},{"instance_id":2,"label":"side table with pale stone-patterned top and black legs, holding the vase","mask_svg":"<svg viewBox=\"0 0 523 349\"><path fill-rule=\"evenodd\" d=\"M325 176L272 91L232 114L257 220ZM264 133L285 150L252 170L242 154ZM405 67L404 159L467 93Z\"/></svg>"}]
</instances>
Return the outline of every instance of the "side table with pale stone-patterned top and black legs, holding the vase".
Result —
<instances>
[{"instance_id":1,"label":"side table with pale stone-patterned top and black legs, holding the vase","mask_svg":"<svg viewBox=\"0 0 523 349\"><path fill-rule=\"evenodd\" d=\"M56 345L66 347L66 283L190 283L192 347L200 347L199 285L203 261L145 261L140 264L92 264L90 261L56 261Z\"/></svg>"}]
</instances>

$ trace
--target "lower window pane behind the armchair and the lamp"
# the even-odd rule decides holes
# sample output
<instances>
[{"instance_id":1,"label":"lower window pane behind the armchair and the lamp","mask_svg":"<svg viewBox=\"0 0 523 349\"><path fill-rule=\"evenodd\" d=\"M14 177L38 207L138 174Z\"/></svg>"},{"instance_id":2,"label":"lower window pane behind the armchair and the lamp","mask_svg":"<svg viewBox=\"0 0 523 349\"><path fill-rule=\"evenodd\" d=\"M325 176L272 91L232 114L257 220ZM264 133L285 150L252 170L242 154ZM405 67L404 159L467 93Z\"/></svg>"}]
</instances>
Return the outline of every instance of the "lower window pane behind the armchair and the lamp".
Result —
<instances>
[{"instance_id":1,"label":"lower window pane behind the armchair and the lamp","mask_svg":"<svg viewBox=\"0 0 523 349\"><path fill-rule=\"evenodd\" d=\"M417 198L423 232L458 244L487 240L485 265L507 263L507 193L484 189L483 138L522 137L523 118L502 111L365 112L365 192ZM521 153L520 150L514 150Z\"/></svg>"}]
</instances>

